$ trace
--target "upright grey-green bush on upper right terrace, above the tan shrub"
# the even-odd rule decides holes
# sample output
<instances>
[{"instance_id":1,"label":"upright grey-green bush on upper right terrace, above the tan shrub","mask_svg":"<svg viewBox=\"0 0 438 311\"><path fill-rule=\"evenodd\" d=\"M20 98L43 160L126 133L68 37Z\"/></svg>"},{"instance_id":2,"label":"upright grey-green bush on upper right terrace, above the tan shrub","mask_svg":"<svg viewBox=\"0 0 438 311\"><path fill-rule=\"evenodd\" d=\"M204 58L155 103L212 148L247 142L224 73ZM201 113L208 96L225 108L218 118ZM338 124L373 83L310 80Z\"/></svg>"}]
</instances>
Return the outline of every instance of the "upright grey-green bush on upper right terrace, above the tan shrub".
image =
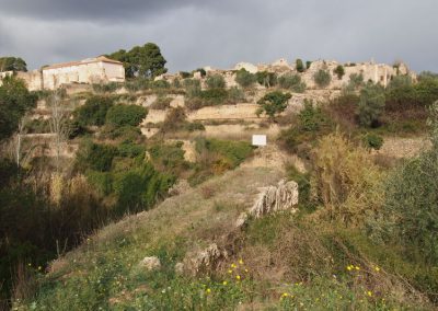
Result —
<instances>
[{"instance_id":1,"label":"upright grey-green bush on upper right terrace, above the tan shrub","mask_svg":"<svg viewBox=\"0 0 438 311\"><path fill-rule=\"evenodd\" d=\"M362 126L376 126L384 110L384 90L379 84L367 83L360 91L357 115Z\"/></svg>"}]
</instances>

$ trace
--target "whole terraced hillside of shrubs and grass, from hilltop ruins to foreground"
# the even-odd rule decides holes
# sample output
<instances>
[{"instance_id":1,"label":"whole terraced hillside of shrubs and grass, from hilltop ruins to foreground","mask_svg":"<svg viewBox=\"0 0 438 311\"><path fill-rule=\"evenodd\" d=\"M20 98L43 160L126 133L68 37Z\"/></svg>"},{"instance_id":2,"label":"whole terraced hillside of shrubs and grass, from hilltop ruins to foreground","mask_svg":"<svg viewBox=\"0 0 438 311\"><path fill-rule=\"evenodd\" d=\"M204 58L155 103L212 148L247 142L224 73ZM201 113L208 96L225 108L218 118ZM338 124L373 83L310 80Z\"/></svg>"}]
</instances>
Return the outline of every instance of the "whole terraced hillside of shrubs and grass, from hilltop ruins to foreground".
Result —
<instances>
[{"instance_id":1,"label":"whole terraced hillside of shrubs and grass, from hilltop ruins to foreground","mask_svg":"<svg viewBox=\"0 0 438 311\"><path fill-rule=\"evenodd\" d=\"M315 89L297 60L168 81L137 68L138 51L114 54L126 82L85 92L3 80L1 307L437 308L435 74L383 87L324 62ZM251 146L264 133L268 146ZM238 227L283 178L298 184L297 211Z\"/></svg>"}]
</instances>

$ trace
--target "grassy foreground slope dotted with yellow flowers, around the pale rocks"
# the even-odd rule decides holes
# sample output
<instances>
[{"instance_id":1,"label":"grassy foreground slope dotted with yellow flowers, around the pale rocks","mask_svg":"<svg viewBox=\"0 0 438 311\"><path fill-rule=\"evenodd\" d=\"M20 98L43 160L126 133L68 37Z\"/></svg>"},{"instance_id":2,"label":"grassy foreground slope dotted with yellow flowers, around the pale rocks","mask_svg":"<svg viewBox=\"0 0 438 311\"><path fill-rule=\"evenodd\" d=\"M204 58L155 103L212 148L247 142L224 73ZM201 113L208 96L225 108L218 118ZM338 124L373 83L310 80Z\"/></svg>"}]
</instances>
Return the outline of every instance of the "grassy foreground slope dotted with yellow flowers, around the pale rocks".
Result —
<instances>
[{"instance_id":1,"label":"grassy foreground slope dotted with yellow flowers, around the pale rocks","mask_svg":"<svg viewBox=\"0 0 438 311\"><path fill-rule=\"evenodd\" d=\"M234 221L258 187L284 172L239 168L171 197L155 209L102 229L42 276L20 310L422 310L426 300L402 277L414 269L359 232L278 214ZM175 264L216 242L229 256L208 274L187 277ZM148 272L145 256L162 267Z\"/></svg>"}]
</instances>

